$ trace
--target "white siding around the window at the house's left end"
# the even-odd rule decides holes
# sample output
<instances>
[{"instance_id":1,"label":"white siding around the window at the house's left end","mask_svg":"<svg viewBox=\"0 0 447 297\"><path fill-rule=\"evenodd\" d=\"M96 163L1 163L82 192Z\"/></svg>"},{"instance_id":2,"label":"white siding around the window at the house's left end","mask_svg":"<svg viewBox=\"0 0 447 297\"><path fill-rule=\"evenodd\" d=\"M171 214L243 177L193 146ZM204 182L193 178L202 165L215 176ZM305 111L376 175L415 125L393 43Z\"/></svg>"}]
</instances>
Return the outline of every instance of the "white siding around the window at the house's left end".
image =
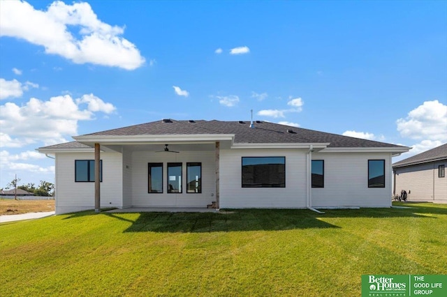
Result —
<instances>
[{"instance_id":1,"label":"white siding around the window at the house's left end","mask_svg":"<svg viewBox=\"0 0 447 297\"><path fill-rule=\"evenodd\" d=\"M94 160L94 153L57 153L56 213L93 209L94 183L75 182L75 160ZM122 208L122 155L101 153L101 207Z\"/></svg>"}]
</instances>

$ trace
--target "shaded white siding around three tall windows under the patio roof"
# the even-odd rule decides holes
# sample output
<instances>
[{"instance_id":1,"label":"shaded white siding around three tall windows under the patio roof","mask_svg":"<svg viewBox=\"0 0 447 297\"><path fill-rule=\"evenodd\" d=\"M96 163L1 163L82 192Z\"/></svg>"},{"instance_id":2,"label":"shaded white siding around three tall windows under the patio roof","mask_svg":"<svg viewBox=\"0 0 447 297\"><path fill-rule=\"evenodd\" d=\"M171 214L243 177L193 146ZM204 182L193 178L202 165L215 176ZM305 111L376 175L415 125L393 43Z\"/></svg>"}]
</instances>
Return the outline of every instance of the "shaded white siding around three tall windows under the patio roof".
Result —
<instances>
[{"instance_id":1,"label":"shaded white siding around three tall windows under the patio roof","mask_svg":"<svg viewBox=\"0 0 447 297\"><path fill-rule=\"evenodd\" d=\"M148 193L147 163L163 163L163 193ZM167 163L182 162L182 193L168 193ZM202 163L202 192L186 193L186 162ZM132 206L135 207L207 207L214 201L214 151L180 153L132 153Z\"/></svg>"}]
</instances>

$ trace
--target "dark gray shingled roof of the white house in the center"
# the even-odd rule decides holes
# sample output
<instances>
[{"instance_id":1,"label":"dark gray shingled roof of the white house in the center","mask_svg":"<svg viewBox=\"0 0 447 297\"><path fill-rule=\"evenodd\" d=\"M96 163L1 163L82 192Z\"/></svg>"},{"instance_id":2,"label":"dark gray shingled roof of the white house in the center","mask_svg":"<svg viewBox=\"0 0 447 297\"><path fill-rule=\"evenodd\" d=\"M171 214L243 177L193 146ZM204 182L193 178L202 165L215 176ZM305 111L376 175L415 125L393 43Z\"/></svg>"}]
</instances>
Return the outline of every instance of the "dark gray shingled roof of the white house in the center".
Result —
<instances>
[{"instance_id":1,"label":"dark gray shingled roof of the white house in the center","mask_svg":"<svg viewBox=\"0 0 447 297\"><path fill-rule=\"evenodd\" d=\"M344 148L404 148L395 144L374 142L367 139L347 137L265 121L175 121L173 119L131 125L129 127L105 130L87 135L205 135L234 134L237 144L268 143L330 143L328 147ZM82 135L82 136L87 136Z\"/></svg>"}]
</instances>

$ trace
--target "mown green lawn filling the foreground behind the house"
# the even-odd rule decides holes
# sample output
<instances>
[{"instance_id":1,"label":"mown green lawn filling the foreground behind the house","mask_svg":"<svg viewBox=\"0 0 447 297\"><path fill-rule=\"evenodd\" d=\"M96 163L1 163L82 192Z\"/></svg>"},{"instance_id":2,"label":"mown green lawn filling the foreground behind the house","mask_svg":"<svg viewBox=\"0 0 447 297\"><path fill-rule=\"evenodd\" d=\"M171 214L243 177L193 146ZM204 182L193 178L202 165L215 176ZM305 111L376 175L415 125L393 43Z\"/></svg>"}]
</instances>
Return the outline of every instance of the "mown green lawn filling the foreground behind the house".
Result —
<instances>
[{"instance_id":1,"label":"mown green lawn filling the foreground behind the house","mask_svg":"<svg viewBox=\"0 0 447 297\"><path fill-rule=\"evenodd\" d=\"M447 205L57 215L0 224L0 296L360 296L447 274Z\"/></svg>"}]
</instances>

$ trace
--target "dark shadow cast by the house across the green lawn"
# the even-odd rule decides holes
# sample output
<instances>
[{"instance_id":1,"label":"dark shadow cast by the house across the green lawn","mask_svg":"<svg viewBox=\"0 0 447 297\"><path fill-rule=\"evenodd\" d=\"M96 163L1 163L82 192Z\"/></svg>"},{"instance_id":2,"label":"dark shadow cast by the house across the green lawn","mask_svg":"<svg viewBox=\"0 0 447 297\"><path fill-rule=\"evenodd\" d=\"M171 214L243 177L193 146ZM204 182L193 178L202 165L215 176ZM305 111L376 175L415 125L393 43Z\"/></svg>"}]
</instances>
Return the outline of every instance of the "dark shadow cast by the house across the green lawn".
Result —
<instances>
[{"instance_id":1,"label":"dark shadow cast by the house across the green lawn","mask_svg":"<svg viewBox=\"0 0 447 297\"><path fill-rule=\"evenodd\" d=\"M339 228L324 222L324 218L425 218L447 215L447 206L427 204L397 204L411 208L361 208L325 210L325 214L307 209L235 209L221 213L140 213L133 221L125 213L101 213L109 218L130 222L124 232L218 232L218 231L278 231L291 229ZM67 218L97 215L94 211L72 213Z\"/></svg>"}]
</instances>

